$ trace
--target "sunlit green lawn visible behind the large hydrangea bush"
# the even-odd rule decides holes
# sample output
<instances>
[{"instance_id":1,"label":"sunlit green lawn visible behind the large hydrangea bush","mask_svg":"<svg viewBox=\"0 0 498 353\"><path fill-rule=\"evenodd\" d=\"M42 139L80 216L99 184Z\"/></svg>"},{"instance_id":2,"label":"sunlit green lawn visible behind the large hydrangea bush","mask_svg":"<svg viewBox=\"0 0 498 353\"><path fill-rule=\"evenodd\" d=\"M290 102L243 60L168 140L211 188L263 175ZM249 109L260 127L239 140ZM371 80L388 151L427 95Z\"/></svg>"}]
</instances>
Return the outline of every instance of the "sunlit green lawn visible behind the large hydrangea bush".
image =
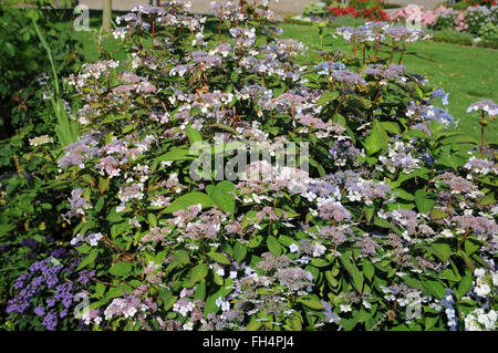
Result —
<instances>
[{"instance_id":1,"label":"sunlit green lawn visible behind the large hydrangea bush","mask_svg":"<svg viewBox=\"0 0 498 353\"><path fill-rule=\"evenodd\" d=\"M97 22L92 25L97 27ZM320 38L314 28L309 25L281 23L283 38L293 38L307 45L318 45ZM334 31L328 29L326 31ZM120 41L98 32L79 32L84 53L89 60L97 60L98 52L104 49L115 60L123 60L126 54L122 51ZM101 44L98 42L101 41ZM352 45L342 38L329 37L325 44L332 49L341 48L352 53ZM467 114L467 107L481 98L498 102L498 51L486 48L473 48L440 42L419 42L408 45L408 52L416 52L419 56L405 55L403 64L412 73L418 73L430 83L443 87L449 93L448 111L459 121L458 129L480 137L480 126L477 113ZM102 58L102 56L101 56ZM311 58L311 56L310 56ZM444 107L444 106L442 106ZM486 131L486 142L497 143L498 122L494 121Z\"/></svg>"}]
</instances>

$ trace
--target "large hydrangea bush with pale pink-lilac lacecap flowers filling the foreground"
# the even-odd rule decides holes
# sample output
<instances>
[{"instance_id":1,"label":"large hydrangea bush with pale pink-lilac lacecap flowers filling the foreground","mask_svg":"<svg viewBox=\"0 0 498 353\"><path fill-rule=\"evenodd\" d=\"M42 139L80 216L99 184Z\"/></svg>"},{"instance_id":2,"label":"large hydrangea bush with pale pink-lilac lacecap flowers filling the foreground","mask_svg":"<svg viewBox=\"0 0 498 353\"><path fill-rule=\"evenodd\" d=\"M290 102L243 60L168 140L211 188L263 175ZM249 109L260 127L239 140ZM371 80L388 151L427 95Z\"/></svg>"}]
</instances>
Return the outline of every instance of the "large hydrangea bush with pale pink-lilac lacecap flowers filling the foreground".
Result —
<instances>
[{"instance_id":1,"label":"large hydrangea bush with pale pink-lilac lacecap flowers filling the foreground","mask_svg":"<svg viewBox=\"0 0 498 353\"><path fill-rule=\"evenodd\" d=\"M266 6L165 2L116 19L128 60L66 79L81 135L56 164L81 324L496 329L495 154L401 64L423 31L339 28L353 55L317 64Z\"/></svg>"}]
</instances>

